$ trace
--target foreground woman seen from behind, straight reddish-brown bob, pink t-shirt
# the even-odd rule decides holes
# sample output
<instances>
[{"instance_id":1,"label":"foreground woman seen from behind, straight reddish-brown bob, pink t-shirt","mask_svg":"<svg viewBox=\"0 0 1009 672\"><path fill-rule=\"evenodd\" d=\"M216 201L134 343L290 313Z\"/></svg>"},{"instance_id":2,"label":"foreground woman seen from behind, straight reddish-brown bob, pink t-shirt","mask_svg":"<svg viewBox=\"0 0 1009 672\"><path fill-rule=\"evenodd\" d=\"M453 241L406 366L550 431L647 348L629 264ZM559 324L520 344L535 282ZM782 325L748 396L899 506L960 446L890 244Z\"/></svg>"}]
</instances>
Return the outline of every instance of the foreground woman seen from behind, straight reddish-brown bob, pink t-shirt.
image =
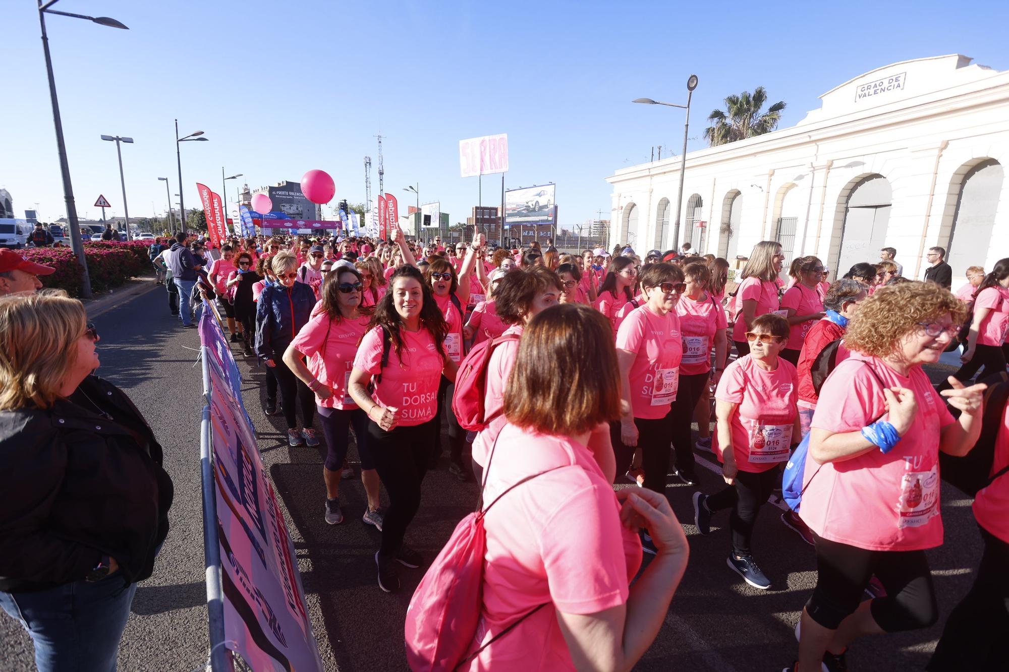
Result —
<instances>
[{"instance_id":1,"label":"foreground woman seen from behind, straight reddish-brown bob, pink t-shirt","mask_svg":"<svg viewBox=\"0 0 1009 672\"><path fill-rule=\"evenodd\" d=\"M608 323L587 306L526 328L487 462L482 500L500 499L484 518L476 656L461 669L629 670L658 634L688 549L665 496L609 485L616 369ZM632 586L641 527L658 555Z\"/></svg>"}]
</instances>

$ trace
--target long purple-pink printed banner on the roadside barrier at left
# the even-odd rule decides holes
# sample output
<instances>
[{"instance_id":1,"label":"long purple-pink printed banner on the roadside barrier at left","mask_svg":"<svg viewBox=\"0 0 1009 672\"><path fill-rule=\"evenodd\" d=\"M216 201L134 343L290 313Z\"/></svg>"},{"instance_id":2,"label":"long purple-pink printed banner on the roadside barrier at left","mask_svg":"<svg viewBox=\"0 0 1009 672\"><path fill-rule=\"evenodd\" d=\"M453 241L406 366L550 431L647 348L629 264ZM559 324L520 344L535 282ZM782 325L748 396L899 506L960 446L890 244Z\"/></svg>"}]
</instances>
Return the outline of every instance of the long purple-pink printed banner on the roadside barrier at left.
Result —
<instances>
[{"instance_id":1,"label":"long purple-pink printed banner on the roadside barrier at left","mask_svg":"<svg viewBox=\"0 0 1009 672\"><path fill-rule=\"evenodd\" d=\"M200 340L210 377L225 642L253 670L322 670L295 549L242 405L238 367L210 311L200 320Z\"/></svg>"}]
</instances>

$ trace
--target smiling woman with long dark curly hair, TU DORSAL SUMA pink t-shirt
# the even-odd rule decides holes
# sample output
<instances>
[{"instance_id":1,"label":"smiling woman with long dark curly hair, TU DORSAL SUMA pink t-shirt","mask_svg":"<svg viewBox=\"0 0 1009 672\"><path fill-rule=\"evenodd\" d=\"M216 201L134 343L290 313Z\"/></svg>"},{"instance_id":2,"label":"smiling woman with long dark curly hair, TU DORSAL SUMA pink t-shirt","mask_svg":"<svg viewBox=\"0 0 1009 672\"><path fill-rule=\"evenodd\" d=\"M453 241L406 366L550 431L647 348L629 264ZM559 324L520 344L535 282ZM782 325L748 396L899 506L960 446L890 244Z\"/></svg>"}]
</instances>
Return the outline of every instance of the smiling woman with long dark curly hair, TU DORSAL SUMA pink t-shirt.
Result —
<instances>
[{"instance_id":1,"label":"smiling woman with long dark curly hair, TU DORSAL SUMA pink t-shirt","mask_svg":"<svg viewBox=\"0 0 1009 672\"><path fill-rule=\"evenodd\" d=\"M421 271L401 266L389 285L347 381L351 400L367 416L368 448L389 498L375 553L378 587L385 592L400 588L397 562L420 567L423 561L403 538L420 507L421 481L438 445L438 382L443 373L455 379L456 372L445 352L448 326ZM369 383L374 383L370 394Z\"/></svg>"}]
</instances>

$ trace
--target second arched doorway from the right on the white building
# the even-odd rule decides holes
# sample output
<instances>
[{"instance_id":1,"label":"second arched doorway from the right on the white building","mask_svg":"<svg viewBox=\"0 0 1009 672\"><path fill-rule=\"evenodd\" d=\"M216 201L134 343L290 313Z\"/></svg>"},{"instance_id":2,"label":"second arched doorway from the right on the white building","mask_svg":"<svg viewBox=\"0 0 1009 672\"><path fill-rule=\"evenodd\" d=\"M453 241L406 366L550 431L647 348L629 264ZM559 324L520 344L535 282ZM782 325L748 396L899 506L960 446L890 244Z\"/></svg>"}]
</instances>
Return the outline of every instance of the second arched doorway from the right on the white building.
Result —
<instances>
[{"instance_id":1,"label":"second arched doorway from the right on the white building","mask_svg":"<svg viewBox=\"0 0 1009 672\"><path fill-rule=\"evenodd\" d=\"M845 223L840 229L840 250L834 264L836 277L856 263L874 263L886 246L893 190L881 175L863 178L848 195Z\"/></svg>"}]
</instances>

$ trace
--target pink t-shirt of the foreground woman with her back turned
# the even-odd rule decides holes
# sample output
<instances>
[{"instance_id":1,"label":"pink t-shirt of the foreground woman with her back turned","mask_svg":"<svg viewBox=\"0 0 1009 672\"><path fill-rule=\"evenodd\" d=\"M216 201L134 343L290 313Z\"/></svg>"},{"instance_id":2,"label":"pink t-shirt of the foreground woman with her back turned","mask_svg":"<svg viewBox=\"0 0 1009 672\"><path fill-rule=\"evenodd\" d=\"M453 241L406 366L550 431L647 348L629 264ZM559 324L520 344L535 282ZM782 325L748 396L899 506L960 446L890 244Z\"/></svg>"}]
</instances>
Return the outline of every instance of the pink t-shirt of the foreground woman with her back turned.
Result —
<instances>
[{"instance_id":1,"label":"pink t-shirt of the foreground woman with her back turned","mask_svg":"<svg viewBox=\"0 0 1009 672\"><path fill-rule=\"evenodd\" d=\"M482 606L471 650L548 605L465 670L573 670L557 610L595 613L627 602L641 542L621 525L616 495L588 448L507 425L487 469L484 501L554 467L560 468L506 494L484 519Z\"/></svg>"}]
</instances>

